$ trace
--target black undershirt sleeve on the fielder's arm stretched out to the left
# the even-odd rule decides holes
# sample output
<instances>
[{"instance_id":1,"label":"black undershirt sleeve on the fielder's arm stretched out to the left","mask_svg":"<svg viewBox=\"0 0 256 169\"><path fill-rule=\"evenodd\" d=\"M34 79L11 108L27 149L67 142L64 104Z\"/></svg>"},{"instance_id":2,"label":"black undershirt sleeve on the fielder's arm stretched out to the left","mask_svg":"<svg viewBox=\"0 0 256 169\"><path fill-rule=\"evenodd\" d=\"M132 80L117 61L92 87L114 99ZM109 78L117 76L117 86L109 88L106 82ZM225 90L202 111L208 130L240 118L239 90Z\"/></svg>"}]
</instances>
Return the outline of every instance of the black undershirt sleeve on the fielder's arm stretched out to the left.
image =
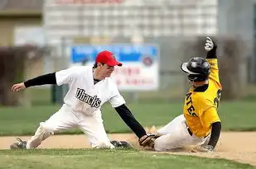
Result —
<instances>
[{"instance_id":1,"label":"black undershirt sleeve on the fielder's arm stretched out to the left","mask_svg":"<svg viewBox=\"0 0 256 169\"><path fill-rule=\"evenodd\" d=\"M56 73L44 74L24 82L25 87L33 87L44 84L56 84Z\"/></svg>"}]
</instances>

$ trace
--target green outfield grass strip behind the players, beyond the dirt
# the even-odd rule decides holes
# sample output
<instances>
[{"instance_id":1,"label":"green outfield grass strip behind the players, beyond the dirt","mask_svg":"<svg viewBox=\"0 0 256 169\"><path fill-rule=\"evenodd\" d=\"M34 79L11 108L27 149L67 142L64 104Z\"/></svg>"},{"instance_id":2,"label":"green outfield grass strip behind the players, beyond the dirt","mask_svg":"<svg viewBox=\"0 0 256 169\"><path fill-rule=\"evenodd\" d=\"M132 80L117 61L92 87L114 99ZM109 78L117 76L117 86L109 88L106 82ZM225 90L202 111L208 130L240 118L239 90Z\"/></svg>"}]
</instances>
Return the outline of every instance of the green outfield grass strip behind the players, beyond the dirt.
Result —
<instances>
[{"instance_id":1,"label":"green outfield grass strip behind the players, beyond the dirt","mask_svg":"<svg viewBox=\"0 0 256 169\"><path fill-rule=\"evenodd\" d=\"M162 126L181 114L182 104L128 104L133 115L143 126ZM60 106L1 107L0 135L31 135L41 121L46 120ZM220 103L220 118L224 130L256 130L254 101L232 101ZM103 107L105 129L108 133L131 132L115 110ZM78 134L80 130L70 129L62 134Z\"/></svg>"}]
</instances>

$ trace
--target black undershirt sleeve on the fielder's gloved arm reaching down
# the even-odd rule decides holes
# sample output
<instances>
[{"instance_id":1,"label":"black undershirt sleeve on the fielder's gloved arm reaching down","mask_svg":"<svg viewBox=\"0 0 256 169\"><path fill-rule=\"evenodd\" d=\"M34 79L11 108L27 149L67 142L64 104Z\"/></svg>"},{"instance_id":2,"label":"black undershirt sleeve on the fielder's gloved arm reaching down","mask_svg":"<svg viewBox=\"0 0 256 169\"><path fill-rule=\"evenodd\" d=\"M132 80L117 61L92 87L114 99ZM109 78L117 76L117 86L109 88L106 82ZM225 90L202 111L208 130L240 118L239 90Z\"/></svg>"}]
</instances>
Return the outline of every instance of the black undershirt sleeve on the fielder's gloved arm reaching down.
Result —
<instances>
[{"instance_id":1,"label":"black undershirt sleeve on the fielder's gloved arm reaching down","mask_svg":"<svg viewBox=\"0 0 256 169\"><path fill-rule=\"evenodd\" d=\"M118 115L120 115L125 124L127 124L128 127L133 130L134 134L138 136L138 138L141 138L143 135L146 135L145 129L134 118L132 112L128 110L127 106L123 104L122 106L118 106L114 109L118 112Z\"/></svg>"}]
</instances>

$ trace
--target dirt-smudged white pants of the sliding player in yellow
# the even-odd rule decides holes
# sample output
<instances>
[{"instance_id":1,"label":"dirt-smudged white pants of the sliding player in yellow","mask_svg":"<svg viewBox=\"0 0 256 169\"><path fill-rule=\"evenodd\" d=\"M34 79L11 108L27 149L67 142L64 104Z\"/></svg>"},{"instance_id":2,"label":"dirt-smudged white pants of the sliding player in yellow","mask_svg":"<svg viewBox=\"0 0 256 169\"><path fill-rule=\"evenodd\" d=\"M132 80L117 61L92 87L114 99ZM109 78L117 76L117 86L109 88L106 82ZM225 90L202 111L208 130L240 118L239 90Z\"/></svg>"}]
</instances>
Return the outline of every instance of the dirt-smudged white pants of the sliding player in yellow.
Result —
<instances>
[{"instance_id":1,"label":"dirt-smudged white pants of the sliding player in yellow","mask_svg":"<svg viewBox=\"0 0 256 169\"><path fill-rule=\"evenodd\" d=\"M162 136L155 140L154 149L156 151L174 151L187 145L201 145L210 138L197 137L189 134L184 115L179 115L170 123L157 130L157 134Z\"/></svg>"}]
</instances>

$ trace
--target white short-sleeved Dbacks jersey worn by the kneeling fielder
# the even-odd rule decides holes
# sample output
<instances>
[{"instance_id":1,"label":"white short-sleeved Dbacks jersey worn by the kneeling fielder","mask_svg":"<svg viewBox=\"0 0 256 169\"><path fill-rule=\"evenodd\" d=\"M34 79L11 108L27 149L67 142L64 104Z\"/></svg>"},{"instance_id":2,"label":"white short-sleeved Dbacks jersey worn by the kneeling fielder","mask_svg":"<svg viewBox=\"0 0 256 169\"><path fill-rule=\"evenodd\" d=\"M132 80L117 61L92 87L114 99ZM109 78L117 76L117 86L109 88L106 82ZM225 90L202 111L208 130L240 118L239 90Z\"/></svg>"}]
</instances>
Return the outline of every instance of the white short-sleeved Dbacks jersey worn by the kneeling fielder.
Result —
<instances>
[{"instance_id":1,"label":"white short-sleeved Dbacks jersey worn by the kneeling fielder","mask_svg":"<svg viewBox=\"0 0 256 169\"><path fill-rule=\"evenodd\" d=\"M92 66L75 66L56 72L57 85L68 84L69 91L65 95L65 105L75 112L93 115L101 106L109 101L113 107L125 103L118 87L111 77L94 84Z\"/></svg>"}]
</instances>

